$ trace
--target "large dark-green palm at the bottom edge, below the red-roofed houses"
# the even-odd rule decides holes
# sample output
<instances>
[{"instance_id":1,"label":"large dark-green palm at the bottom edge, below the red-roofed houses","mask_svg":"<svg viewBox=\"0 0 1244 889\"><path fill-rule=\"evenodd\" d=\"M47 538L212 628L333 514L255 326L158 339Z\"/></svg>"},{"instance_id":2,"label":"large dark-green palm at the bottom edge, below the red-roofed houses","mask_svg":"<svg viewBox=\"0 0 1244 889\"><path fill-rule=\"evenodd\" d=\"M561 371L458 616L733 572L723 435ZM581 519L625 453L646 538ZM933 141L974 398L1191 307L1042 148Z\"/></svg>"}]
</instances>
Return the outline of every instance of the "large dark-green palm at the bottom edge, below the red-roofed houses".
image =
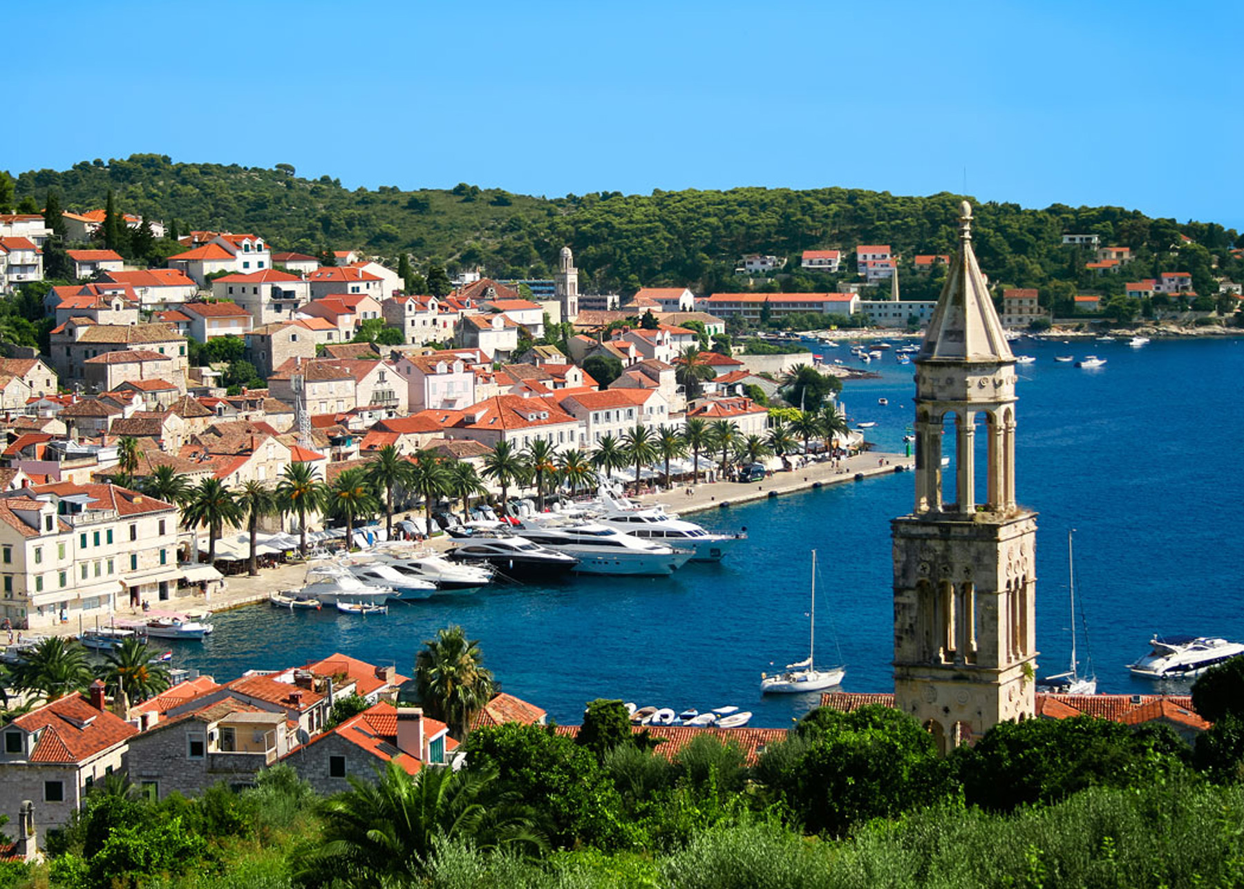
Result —
<instances>
[{"instance_id":1,"label":"large dark-green palm at the bottom edge, below the red-roofed houses","mask_svg":"<svg viewBox=\"0 0 1244 889\"><path fill-rule=\"evenodd\" d=\"M411 775L397 758L377 770L374 782L351 776L351 790L325 801L322 841L301 859L299 878L312 885L417 885L440 841L542 848L529 809L490 792L495 780L495 771L444 766ZM491 811L480 802L485 798Z\"/></svg>"}]
</instances>

